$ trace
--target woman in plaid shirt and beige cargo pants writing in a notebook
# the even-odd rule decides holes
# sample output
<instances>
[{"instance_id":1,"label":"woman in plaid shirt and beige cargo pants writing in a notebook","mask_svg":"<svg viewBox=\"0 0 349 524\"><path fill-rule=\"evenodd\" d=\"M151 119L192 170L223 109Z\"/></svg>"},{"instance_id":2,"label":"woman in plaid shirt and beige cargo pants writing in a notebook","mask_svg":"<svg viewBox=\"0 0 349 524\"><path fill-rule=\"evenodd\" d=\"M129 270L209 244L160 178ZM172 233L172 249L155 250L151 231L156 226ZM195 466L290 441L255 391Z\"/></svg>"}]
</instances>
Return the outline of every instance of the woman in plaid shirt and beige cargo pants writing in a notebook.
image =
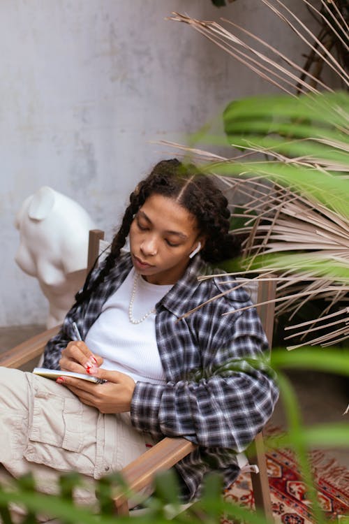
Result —
<instances>
[{"instance_id":1,"label":"woman in plaid shirt and beige cargo pants writing in a notebook","mask_svg":"<svg viewBox=\"0 0 349 524\"><path fill-rule=\"evenodd\" d=\"M207 262L239 254L229 218L226 198L194 166L161 161L138 184L111 253L45 350L45 367L105 382L2 371L1 427L16 428L0 446L8 472L32 470L50 490L57 471L99 478L182 436L199 444L176 466L184 497L198 495L210 470L235 480L235 454L271 416L277 389L270 370L244 361L267 354L255 309L223 315L248 304L246 292L231 277L198 282ZM128 237L130 253L121 252Z\"/></svg>"}]
</instances>

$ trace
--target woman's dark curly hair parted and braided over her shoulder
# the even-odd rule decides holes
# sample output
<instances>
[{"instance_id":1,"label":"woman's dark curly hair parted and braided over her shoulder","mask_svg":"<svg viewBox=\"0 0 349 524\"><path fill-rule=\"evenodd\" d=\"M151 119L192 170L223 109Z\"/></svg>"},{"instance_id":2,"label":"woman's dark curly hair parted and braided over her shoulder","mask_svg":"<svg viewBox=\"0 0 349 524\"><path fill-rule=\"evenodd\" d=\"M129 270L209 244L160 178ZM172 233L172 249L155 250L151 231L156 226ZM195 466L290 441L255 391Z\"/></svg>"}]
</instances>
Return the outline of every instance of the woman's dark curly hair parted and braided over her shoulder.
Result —
<instances>
[{"instance_id":1,"label":"woman's dark curly hair parted and braided over her shoulder","mask_svg":"<svg viewBox=\"0 0 349 524\"><path fill-rule=\"evenodd\" d=\"M89 289L89 273L84 288L75 297L77 304L98 287L114 267L121 248L124 247L134 215L152 194L174 198L179 205L191 212L198 221L200 235L206 237L200 256L207 262L221 262L239 255L240 244L229 233L230 210L228 200L210 177L200 173L193 164L184 165L177 159L158 162L150 175L142 180L130 196L121 226L112 240L105 265Z\"/></svg>"}]
</instances>

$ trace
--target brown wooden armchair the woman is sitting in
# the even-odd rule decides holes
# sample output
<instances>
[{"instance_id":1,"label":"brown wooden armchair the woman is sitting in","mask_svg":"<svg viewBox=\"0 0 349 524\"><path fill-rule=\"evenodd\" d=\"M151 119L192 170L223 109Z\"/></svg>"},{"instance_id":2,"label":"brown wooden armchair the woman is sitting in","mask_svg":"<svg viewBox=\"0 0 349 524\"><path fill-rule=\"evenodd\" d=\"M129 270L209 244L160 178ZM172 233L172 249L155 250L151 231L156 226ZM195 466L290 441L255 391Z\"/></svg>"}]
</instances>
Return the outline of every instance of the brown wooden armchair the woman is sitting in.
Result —
<instances>
[{"instance_id":1,"label":"brown wooden armchair the woman is sitting in","mask_svg":"<svg viewBox=\"0 0 349 524\"><path fill-rule=\"evenodd\" d=\"M90 231L88 270L94 264L96 256L98 256L100 252L100 245L103 239L103 231ZM105 248L105 244L103 248ZM256 304L261 304L257 306L257 310L269 345L271 346L274 326L274 302L272 302L272 300L275 297L275 282L272 280L254 280L252 282L257 284L257 296L253 301L255 301ZM246 287L248 286L251 286L251 283L246 284ZM57 333L57 330L58 326L57 328L52 328L44 333L40 333L40 335L6 351L0 356L0 365L20 367L27 361L31 361L40 356L47 340ZM143 453L142 456L127 465L124 470L121 471L121 474L124 476L130 490L133 491L133 493L138 493L151 484L157 472L170 469L179 460L188 455L188 453L194 451L195 447L195 444L184 438L165 437L161 442L158 442L158 444ZM269 492L267 463L262 433L255 437L254 450L255 456L253 458L249 457L249 460L250 463L257 465L259 470L259 473L251 474L255 506L261 509L266 518L269 518L269 521L272 522L272 502ZM120 493L115 497L114 502L116 514L128 514L128 500L124 493Z\"/></svg>"}]
</instances>

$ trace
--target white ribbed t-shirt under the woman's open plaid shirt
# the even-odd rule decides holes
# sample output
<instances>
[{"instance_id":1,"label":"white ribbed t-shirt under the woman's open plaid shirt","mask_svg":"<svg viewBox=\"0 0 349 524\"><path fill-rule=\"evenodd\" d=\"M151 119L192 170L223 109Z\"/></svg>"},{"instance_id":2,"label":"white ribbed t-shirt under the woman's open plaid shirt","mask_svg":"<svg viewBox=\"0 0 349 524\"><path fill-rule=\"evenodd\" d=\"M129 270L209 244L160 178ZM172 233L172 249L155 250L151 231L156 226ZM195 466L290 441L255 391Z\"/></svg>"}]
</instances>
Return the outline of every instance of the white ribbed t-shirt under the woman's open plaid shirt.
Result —
<instances>
[{"instance_id":1,"label":"white ribbed t-shirt under the woman's open plaid shirt","mask_svg":"<svg viewBox=\"0 0 349 524\"><path fill-rule=\"evenodd\" d=\"M119 289L103 305L84 342L94 354L103 357L101 367L126 373L135 381L162 384L165 375L156 344L155 312L138 324L131 323L128 317L136 277L137 273L132 268ZM133 319L142 319L171 288L172 284L158 286L139 277L133 301Z\"/></svg>"}]
</instances>

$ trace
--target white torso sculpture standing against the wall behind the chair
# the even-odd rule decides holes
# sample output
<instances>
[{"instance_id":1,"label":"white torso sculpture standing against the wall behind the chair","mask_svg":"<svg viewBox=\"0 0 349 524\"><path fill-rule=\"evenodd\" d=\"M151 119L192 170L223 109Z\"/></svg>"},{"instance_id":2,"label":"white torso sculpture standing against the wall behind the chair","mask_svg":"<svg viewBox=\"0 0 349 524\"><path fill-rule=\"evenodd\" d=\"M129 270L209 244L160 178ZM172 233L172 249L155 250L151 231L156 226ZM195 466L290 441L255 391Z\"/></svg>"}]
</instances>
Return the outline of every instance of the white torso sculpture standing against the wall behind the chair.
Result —
<instances>
[{"instance_id":1,"label":"white torso sculpture standing against the wall behind the chair","mask_svg":"<svg viewBox=\"0 0 349 524\"><path fill-rule=\"evenodd\" d=\"M50 303L47 328L52 328L63 321L84 283L94 221L81 205L44 186L26 198L15 226L20 231L15 261L38 279Z\"/></svg>"}]
</instances>

